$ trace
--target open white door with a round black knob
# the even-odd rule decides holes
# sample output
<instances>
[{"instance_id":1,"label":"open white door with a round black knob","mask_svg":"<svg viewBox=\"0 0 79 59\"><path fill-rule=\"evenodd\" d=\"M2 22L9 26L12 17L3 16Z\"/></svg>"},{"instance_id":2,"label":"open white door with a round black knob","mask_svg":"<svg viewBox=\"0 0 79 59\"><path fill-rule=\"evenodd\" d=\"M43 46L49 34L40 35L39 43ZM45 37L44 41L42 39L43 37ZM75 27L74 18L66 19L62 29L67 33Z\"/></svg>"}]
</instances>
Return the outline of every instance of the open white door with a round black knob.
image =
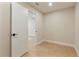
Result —
<instances>
[{"instance_id":1,"label":"open white door with a round black knob","mask_svg":"<svg viewBox=\"0 0 79 59\"><path fill-rule=\"evenodd\" d=\"M22 56L27 49L27 10L12 3L12 56Z\"/></svg>"}]
</instances>

